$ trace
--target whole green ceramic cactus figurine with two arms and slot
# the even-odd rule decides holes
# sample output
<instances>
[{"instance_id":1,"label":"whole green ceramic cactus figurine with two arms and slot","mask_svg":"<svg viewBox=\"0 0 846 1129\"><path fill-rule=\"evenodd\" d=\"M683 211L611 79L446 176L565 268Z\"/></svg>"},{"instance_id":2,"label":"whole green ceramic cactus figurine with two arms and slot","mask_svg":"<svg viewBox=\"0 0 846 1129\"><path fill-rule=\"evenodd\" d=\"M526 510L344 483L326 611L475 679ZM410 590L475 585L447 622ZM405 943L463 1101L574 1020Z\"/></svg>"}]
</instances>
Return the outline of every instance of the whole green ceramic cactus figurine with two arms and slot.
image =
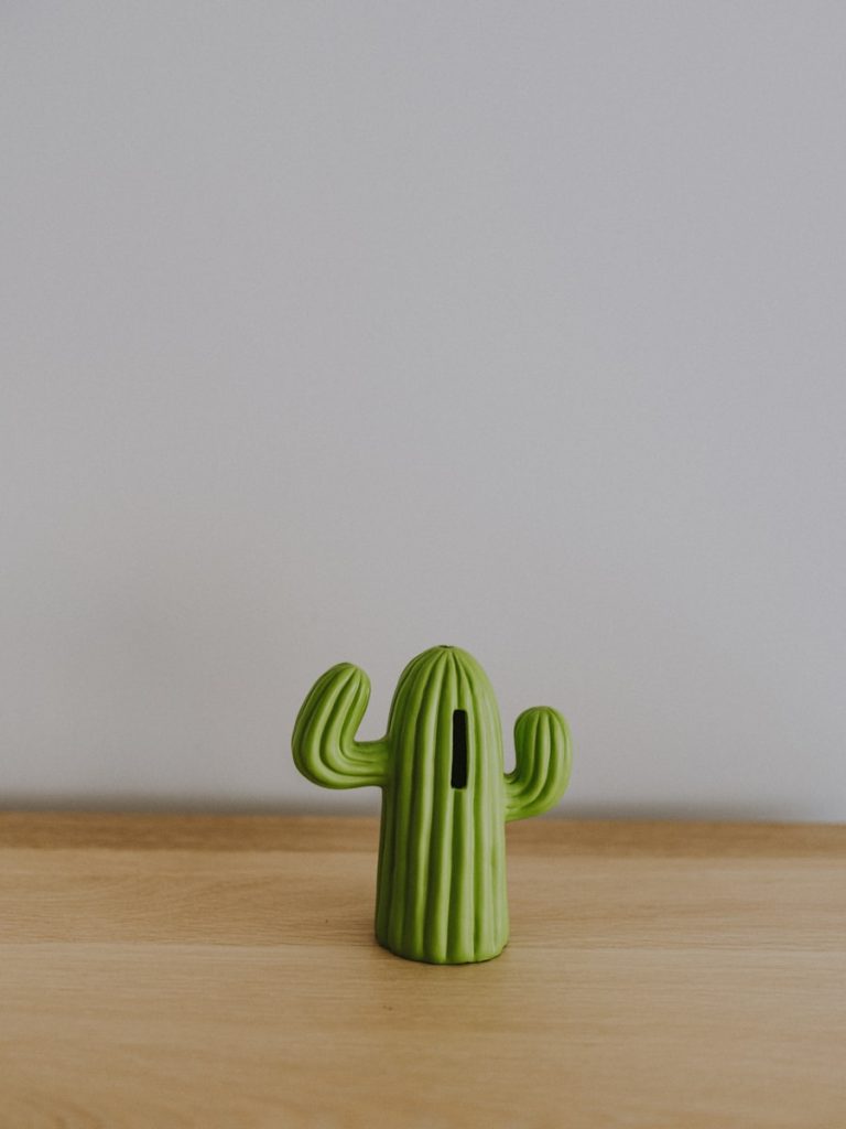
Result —
<instances>
[{"instance_id":1,"label":"whole green ceramic cactus figurine with two arms and slot","mask_svg":"<svg viewBox=\"0 0 846 1129\"><path fill-rule=\"evenodd\" d=\"M297 768L327 788L377 785L382 821L376 937L414 961L497 956L509 938L505 822L552 807L570 778L570 733L557 710L514 725L517 768L503 772L496 699L479 664L432 647L406 666L380 741L355 741L370 682L340 663L297 718Z\"/></svg>"}]
</instances>

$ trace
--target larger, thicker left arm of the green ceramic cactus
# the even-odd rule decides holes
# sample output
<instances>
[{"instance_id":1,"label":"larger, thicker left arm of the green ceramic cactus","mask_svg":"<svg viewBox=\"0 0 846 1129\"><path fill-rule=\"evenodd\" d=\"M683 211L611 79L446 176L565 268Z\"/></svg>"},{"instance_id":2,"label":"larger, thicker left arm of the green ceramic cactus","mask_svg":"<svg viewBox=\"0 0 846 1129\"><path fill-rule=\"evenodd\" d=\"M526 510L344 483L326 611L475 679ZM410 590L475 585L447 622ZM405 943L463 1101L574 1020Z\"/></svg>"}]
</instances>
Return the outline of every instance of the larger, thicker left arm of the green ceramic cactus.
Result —
<instances>
[{"instance_id":1,"label":"larger, thicker left arm of the green ceramic cactus","mask_svg":"<svg viewBox=\"0 0 846 1129\"><path fill-rule=\"evenodd\" d=\"M300 772L325 788L384 785L386 741L355 741L370 699L370 681L352 663L338 663L320 679L302 703L291 746Z\"/></svg>"}]
</instances>

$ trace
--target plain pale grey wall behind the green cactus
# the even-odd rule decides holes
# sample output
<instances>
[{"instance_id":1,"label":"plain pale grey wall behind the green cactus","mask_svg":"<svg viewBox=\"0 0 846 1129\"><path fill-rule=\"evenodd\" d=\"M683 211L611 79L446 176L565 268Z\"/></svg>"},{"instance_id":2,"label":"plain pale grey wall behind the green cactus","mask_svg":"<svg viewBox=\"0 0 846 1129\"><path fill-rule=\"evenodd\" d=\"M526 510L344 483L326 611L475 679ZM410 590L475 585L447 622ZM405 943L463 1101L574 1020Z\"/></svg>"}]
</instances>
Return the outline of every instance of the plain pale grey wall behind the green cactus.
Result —
<instances>
[{"instance_id":1,"label":"plain pale grey wall behind the green cactus","mask_svg":"<svg viewBox=\"0 0 846 1129\"><path fill-rule=\"evenodd\" d=\"M374 811L341 659L562 814L846 817L846 7L7 3L2 789Z\"/></svg>"}]
</instances>

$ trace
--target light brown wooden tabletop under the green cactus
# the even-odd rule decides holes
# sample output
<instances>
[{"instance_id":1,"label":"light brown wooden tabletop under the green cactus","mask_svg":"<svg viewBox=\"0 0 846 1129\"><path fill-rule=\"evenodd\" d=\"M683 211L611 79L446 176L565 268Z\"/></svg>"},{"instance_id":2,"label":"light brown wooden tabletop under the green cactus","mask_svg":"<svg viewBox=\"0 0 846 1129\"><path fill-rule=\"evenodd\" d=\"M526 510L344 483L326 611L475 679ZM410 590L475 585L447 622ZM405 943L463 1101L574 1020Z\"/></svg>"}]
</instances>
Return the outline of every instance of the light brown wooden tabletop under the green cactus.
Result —
<instances>
[{"instance_id":1,"label":"light brown wooden tabletop under the green cactus","mask_svg":"<svg viewBox=\"0 0 846 1129\"><path fill-rule=\"evenodd\" d=\"M512 824L456 968L374 944L377 835L0 815L0 1126L846 1127L846 828Z\"/></svg>"}]
</instances>

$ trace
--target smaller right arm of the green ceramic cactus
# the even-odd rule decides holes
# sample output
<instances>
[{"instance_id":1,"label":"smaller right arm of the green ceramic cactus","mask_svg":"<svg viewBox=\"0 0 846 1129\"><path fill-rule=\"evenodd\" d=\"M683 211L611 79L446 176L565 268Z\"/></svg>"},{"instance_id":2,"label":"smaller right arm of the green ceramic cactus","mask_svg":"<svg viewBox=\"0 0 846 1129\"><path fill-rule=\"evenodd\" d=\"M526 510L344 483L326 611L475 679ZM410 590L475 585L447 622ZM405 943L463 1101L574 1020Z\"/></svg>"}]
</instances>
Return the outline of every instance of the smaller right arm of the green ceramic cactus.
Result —
<instances>
[{"instance_id":1,"label":"smaller right arm of the green ceramic cactus","mask_svg":"<svg viewBox=\"0 0 846 1129\"><path fill-rule=\"evenodd\" d=\"M570 729L548 706L525 710L514 723L517 765L505 773L505 820L540 815L557 804L570 780Z\"/></svg>"}]
</instances>

